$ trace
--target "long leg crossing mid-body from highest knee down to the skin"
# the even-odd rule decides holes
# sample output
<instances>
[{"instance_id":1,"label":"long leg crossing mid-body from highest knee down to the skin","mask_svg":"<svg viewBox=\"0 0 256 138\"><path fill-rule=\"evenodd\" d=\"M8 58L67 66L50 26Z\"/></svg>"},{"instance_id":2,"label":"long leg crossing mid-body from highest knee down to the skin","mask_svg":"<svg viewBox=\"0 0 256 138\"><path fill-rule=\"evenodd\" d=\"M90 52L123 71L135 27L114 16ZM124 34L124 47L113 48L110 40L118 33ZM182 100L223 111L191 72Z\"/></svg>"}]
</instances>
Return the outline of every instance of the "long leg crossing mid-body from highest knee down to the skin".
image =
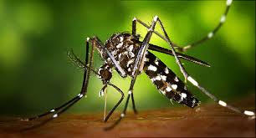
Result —
<instances>
[{"instance_id":1,"label":"long leg crossing mid-body from highest knee down to the skin","mask_svg":"<svg viewBox=\"0 0 256 138\"><path fill-rule=\"evenodd\" d=\"M133 76L132 76L130 88L129 88L129 91L128 91L128 97L127 97L127 100L125 102L125 108L124 108L123 112L120 114L120 118L118 120L116 120L113 125L110 125L109 127L105 128L105 130L113 129L115 127L115 125L118 125L120 123L120 120L122 120L122 118L125 117L127 106L129 104L130 97L133 93L133 88L134 88L134 84L136 82L136 78L137 78L138 74L141 73L141 71L143 69L143 66L144 66L144 59L145 59L145 56L146 56L146 51L147 51L148 46L149 46L148 43L150 42L152 32L154 31L154 29L156 27L157 20L158 20L158 17L155 16L153 18L152 23L151 23L151 27L148 29L148 32L146 33L146 37L144 38L144 40L142 42L141 48L139 49L138 54L136 54L135 66L133 68L133 73L132 73Z\"/></svg>"}]
</instances>

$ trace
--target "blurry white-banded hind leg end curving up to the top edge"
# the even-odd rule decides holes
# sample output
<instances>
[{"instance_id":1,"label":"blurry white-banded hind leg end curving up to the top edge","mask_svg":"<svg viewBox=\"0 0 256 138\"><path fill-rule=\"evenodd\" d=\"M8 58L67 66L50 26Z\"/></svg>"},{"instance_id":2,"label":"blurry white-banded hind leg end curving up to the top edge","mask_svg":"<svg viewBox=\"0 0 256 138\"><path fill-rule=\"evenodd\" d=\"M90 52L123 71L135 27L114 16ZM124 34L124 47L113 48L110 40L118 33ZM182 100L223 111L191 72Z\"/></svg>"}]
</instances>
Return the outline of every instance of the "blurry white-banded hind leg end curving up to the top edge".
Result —
<instances>
[{"instance_id":1,"label":"blurry white-banded hind leg end curving up to the top edge","mask_svg":"<svg viewBox=\"0 0 256 138\"><path fill-rule=\"evenodd\" d=\"M187 51L187 49L192 49L192 48L196 47L198 44L203 43L203 42L207 41L208 39L211 39L214 36L214 34L218 32L219 28L221 28L223 26L223 23L226 21L226 18L228 15L228 10L232 4L232 1L233 0L227 0L225 12L223 13L222 17L220 18L218 25L215 28L213 28L213 30L210 33L207 33L207 36L205 36L191 44L187 44L187 46L185 46L185 47L177 46L177 44L174 44L174 46L177 46L179 51L185 52L185 51Z\"/></svg>"}]
</instances>

